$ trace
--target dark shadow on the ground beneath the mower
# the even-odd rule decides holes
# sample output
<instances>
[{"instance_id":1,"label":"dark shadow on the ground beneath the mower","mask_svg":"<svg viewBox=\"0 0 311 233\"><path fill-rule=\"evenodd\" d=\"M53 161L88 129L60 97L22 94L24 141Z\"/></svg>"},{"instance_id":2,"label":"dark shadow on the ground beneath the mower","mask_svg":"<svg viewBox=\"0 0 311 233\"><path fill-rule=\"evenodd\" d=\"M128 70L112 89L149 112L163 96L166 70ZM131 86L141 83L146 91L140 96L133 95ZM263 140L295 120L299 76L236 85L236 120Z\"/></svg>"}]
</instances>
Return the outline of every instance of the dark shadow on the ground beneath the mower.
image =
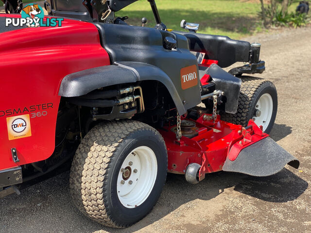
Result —
<instances>
[{"instance_id":1,"label":"dark shadow on the ground beneath the mower","mask_svg":"<svg viewBox=\"0 0 311 233\"><path fill-rule=\"evenodd\" d=\"M208 174L202 182L187 183L183 175L168 174L160 199L151 213L127 229L104 227L83 216L73 205L69 194L69 172L22 190L21 195L11 195L0 200L2 230L0 232L22 232L28 228L34 232L134 232L167 216L191 200L210 200L226 188L269 202L287 202L298 198L308 183L287 169L274 176L256 178L248 175L217 172ZM221 190L221 191L220 191ZM10 219L24 219L12 222ZM30 225L27 225L30 224Z\"/></svg>"}]
</instances>

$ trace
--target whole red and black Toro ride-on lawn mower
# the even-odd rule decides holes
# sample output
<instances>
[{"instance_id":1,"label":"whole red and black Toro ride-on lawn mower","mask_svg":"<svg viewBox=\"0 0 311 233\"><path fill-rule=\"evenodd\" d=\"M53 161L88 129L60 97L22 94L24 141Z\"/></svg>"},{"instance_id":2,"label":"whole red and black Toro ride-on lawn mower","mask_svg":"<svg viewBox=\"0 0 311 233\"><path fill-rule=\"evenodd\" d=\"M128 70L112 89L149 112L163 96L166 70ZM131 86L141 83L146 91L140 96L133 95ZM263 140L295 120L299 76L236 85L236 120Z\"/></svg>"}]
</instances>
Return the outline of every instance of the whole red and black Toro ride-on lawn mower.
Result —
<instances>
[{"instance_id":1,"label":"whole red and black Toro ride-on lawn mower","mask_svg":"<svg viewBox=\"0 0 311 233\"><path fill-rule=\"evenodd\" d=\"M79 210L127 227L153 208L167 171L198 183L298 168L267 134L275 86L246 76L265 69L260 45L185 20L189 32L172 31L154 0L155 28L130 26L115 12L134 1L46 0L43 21L64 17L61 27L5 27L20 15L0 15L0 197L72 161ZM248 64L222 69L236 62Z\"/></svg>"}]
</instances>

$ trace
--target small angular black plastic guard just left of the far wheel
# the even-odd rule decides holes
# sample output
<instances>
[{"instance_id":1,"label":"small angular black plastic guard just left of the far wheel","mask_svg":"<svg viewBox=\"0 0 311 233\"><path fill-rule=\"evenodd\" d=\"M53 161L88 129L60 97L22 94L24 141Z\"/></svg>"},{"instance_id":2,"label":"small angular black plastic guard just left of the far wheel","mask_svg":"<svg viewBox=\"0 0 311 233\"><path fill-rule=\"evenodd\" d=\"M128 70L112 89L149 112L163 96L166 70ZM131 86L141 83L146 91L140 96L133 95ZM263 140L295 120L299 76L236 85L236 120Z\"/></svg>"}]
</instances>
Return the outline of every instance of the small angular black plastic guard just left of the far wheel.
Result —
<instances>
[{"instance_id":1,"label":"small angular black plastic guard just left of the far wheel","mask_svg":"<svg viewBox=\"0 0 311 233\"><path fill-rule=\"evenodd\" d=\"M229 74L216 64L212 64L207 69L214 83L216 90L225 92L226 103L225 112L235 114L238 110L239 96L241 89L241 79Z\"/></svg>"}]
</instances>

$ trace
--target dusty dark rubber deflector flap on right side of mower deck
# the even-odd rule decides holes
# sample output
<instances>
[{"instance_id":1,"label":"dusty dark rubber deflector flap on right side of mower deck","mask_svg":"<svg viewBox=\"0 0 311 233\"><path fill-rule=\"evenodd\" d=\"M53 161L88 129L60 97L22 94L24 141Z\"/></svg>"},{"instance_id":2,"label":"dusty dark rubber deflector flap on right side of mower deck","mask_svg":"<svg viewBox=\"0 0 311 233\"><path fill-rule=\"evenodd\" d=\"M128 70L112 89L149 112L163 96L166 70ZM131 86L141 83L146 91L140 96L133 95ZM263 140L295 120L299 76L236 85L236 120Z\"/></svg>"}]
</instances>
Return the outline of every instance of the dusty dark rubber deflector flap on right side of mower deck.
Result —
<instances>
[{"instance_id":1,"label":"dusty dark rubber deflector flap on right side of mower deck","mask_svg":"<svg viewBox=\"0 0 311 233\"><path fill-rule=\"evenodd\" d=\"M293 155L277 145L272 138L266 137L243 149L236 160L231 161L227 157L223 170L251 176L271 176L286 164L299 167L299 161Z\"/></svg>"}]
</instances>

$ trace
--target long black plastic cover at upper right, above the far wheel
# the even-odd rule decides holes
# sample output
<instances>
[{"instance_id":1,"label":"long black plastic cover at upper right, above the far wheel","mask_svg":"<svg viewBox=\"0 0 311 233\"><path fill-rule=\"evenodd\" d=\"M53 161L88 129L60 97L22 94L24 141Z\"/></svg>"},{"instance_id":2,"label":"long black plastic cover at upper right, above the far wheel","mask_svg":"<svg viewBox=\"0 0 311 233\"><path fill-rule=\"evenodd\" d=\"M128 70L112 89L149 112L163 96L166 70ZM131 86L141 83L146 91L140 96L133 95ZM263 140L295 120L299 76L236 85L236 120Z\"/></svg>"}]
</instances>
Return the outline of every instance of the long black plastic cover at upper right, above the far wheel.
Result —
<instances>
[{"instance_id":1,"label":"long black plastic cover at upper right, above the far wheel","mask_svg":"<svg viewBox=\"0 0 311 233\"><path fill-rule=\"evenodd\" d=\"M220 67L229 67L236 62L248 62L251 44L232 40L228 36L191 32L175 32L187 37L191 51L206 53L205 59L217 60Z\"/></svg>"}]
</instances>

